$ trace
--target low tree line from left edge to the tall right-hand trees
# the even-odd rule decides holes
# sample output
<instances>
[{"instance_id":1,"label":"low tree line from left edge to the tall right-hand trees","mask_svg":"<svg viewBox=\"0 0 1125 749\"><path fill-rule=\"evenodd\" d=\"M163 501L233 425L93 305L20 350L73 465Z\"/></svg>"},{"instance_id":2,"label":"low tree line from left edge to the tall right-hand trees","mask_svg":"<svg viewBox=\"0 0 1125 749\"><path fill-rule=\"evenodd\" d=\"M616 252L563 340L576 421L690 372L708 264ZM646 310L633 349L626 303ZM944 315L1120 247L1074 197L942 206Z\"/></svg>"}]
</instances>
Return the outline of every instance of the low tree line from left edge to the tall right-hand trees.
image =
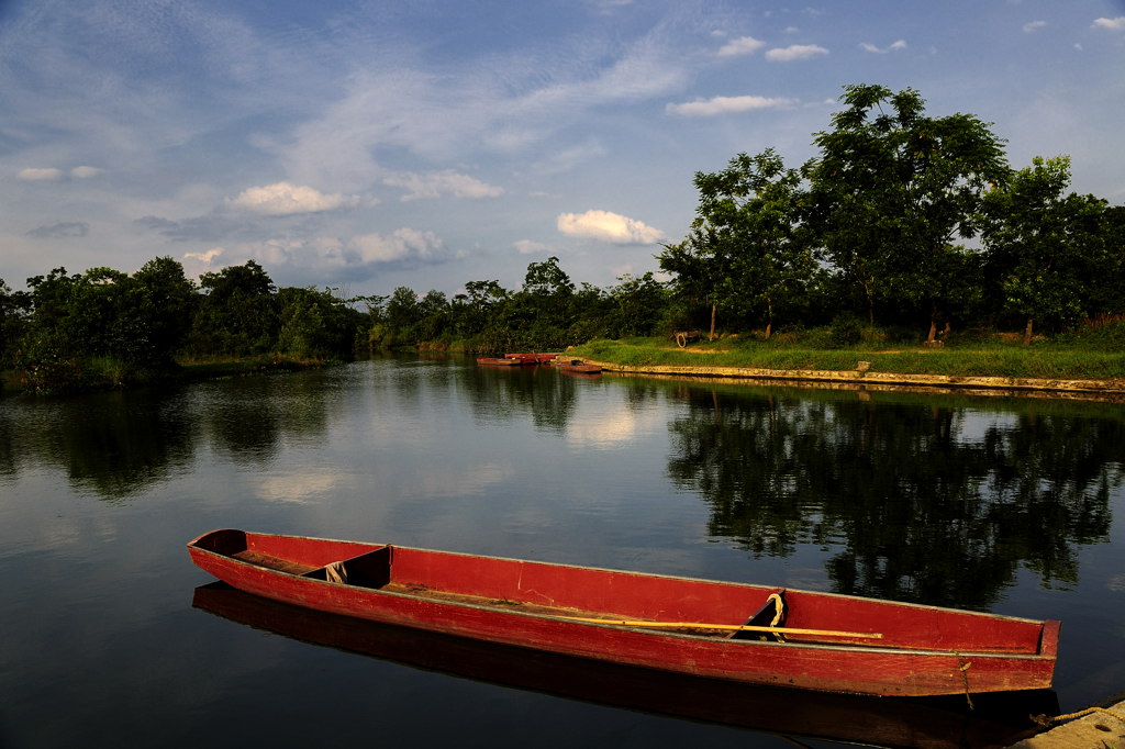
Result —
<instances>
[{"instance_id":1,"label":"low tree line from left edge to the tall right-hand trees","mask_svg":"<svg viewBox=\"0 0 1125 749\"><path fill-rule=\"evenodd\" d=\"M135 273L57 268L14 291L0 279L0 369L33 390L125 387L184 361L258 357L346 360L402 346L557 350L596 337L652 335L668 310L652 273L609 291L576 289L558 259L533 262L521 290L470 281L448 299L400 287L389 297L277 288L254 261L204 273L171 258Z\"/></svg>"}]
</instances>

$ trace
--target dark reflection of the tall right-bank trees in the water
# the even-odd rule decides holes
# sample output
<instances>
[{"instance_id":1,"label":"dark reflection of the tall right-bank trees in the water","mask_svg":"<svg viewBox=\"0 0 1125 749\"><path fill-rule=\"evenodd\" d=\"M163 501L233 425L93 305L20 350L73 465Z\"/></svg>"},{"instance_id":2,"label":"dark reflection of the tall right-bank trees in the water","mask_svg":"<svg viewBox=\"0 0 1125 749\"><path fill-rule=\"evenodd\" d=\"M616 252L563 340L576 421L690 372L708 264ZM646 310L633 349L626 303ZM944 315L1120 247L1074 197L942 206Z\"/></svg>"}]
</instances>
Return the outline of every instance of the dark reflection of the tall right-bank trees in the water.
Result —
<instances>
[{"instance_id":1,"label":"dark reflection of the tall right-bank trees in the water","mask_svg":"<svg viewBox=\"0 0 1125 749\"><path fill-rule=\"evenodd\" d=\"M1117 418L1047 401L680 392L692 407L669 427L668 473L710 505L710 532L754 556L838 549L838 593L983 610L1020 567L1077 584L1077 548L1108 539Z\"/></svg>"}]
</instances>

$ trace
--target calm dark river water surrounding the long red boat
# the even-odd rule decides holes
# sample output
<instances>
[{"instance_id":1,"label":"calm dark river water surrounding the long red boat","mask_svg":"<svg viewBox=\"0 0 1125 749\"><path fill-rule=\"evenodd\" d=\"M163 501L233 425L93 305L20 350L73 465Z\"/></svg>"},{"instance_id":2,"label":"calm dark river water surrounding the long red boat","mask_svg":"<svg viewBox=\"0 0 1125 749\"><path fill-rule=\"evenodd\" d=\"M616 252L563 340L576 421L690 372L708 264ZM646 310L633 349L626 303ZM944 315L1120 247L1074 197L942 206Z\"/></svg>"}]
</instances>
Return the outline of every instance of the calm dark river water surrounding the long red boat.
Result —
<instances>
[{"instance_id":1,"label":"calm dark river water surrounding the long red boat","mask_svg":"<svg viewBox=\"0 0 1125 749\"><path fill-rule=\"evenodd\" d=\"M790 747L950 722L352 631L208 585L184 543L216 527L1061 619L1036 698L1076 710L1125 689L1123 481L1125 406L1047 399L441 358L7 396L0 747Z\"/></svg>"}]
</instances>

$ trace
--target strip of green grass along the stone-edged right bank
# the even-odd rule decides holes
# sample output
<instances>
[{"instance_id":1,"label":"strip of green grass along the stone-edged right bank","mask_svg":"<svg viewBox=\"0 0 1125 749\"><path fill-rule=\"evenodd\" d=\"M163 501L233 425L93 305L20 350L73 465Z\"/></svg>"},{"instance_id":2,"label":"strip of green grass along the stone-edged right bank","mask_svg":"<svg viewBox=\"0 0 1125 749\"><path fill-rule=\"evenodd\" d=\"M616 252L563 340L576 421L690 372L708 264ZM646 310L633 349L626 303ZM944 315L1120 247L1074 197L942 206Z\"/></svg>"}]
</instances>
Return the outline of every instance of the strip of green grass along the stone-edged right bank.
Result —
<instances>
[{"instance_id":1,"label":"strip of green grass along the stone-edged right bank","mask_svg":"<svg viewBox=\"0 0 1125 749\"><path fill-rule=\"evenodd\" d=\"M663 339L592 341L569 353L623 367L695 366L782 371L848 371L868 362L873 372L947 377L1035 379L1125 379L1125 350L1086 348L1080 342L1030 346L1002 341L956 346L906 346L885 342L814 348L808 341L753 337L705 339L680 348Z\"/></svg>"}]
</instances>

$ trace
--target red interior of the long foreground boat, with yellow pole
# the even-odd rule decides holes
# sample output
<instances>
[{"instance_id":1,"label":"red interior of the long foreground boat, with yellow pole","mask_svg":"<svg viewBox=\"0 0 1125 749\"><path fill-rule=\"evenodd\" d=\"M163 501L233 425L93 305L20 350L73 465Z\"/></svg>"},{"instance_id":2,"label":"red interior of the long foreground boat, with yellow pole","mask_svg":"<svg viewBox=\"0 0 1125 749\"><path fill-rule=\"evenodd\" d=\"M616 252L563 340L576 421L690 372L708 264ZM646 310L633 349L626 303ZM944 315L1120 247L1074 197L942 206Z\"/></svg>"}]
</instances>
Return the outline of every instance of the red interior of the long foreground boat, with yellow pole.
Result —
<instances>
[{"instance_id":1,"label":"red interior of the long foreground boat, with yellow pole","mask_svg":"<svg viewBox=\"0 0 1125 749\"><path fill-rule=\"evenodd\" d=\"M729 639L1053 655L1044 652L1053 650L1053 642L1041 650L1046 643L1040 622L893 602L241 531L215 532L196 545L294 576L578 621L687 623L669 629ZM703 622L709 624L690 626ZM747 625L785 632L737 629ZM809 628L817 629L818 637L799 632Z\"/></svg>"}]
</instances>

